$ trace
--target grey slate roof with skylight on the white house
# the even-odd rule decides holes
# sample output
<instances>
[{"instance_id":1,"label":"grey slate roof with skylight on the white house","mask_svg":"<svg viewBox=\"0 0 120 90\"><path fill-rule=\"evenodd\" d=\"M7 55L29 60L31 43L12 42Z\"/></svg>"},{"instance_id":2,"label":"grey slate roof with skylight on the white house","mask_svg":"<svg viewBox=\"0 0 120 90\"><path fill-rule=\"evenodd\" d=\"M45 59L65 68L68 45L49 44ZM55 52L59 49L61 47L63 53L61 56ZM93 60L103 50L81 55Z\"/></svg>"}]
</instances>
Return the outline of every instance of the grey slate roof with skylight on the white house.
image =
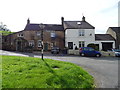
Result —
<instances>
[{"instance_id":1,"label":"grey slate roof with skylight on the white house","mask_svg":"<svg viewBox=\"0 0 120 90\"><path fill-rule=\"evenodd\" d=\"M64 26L65 29L95 29L86 21L64 21Z\"/></svg>"}]
</instances>

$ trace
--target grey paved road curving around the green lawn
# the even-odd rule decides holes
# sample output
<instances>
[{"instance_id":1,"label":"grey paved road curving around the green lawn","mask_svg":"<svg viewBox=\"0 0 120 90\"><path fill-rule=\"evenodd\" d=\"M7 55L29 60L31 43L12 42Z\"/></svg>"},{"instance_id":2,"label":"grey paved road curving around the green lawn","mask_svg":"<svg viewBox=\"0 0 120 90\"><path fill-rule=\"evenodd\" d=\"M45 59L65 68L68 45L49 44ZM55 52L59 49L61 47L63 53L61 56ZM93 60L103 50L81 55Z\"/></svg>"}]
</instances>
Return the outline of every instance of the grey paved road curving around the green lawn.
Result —
<instances>
[{"instance_id":1,"label":"grey paved road curving around the green lawn","mask_svg":"<svg viewBox=\"0 0 120 90\"><path fill-rule=\"evenodd\" d=\"M1 51L1 55L27 56L41 58L40 54ZM87 70L94 78L97 88L118 88L118 57L80 57L64 55L44 55L60 61L72 62Z\"/></svg>"}]
</instances>

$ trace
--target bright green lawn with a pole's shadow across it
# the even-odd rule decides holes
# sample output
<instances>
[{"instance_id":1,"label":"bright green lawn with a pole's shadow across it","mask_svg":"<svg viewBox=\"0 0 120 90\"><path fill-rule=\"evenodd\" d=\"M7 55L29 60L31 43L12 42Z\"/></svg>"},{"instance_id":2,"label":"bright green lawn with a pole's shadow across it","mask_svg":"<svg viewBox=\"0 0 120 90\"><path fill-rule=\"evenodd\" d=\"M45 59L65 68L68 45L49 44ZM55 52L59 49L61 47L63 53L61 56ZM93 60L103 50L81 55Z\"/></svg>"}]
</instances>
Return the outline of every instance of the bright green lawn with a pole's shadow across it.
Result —
<instances>
[{"instance_id":1,"label":"bright green lawn with a pole's shadow across it","mask_svg":"<svg viewBox=\"0 0 120 90\"><path fill-rule=\"evenodd\" d=\"M94 88L81 67L51 59L2 56L3 88Z\"/></svg>"}]
</instances>

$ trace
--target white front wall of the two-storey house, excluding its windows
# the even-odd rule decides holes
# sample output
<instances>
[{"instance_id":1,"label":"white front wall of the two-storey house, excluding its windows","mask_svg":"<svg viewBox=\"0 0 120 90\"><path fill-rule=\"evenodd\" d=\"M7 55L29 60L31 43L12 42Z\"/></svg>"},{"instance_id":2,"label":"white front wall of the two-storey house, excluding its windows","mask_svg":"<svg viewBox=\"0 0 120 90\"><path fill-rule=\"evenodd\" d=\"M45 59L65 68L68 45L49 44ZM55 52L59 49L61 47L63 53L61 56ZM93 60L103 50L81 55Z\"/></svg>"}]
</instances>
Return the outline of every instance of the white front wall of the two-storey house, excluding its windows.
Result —
<instances>
[{"instance_id":1,"label":"white front wall of the two-storey house, excluding its windows","mask_svg":"<svg viewBox=\"0 0 120 90\"><path fill-rule=\"evenodd\" d=\"M85 47L87 47L88 44L95 42L95 30L94 29L84 29L85 36L79 36L79 30L82 30L82 29L66 29L65 31L65 46L66 47L68 47L68 42L73 42L73 49L75 48L75 46L79 47L79 41L84 41Z\"/></svg>"}]
</instances>

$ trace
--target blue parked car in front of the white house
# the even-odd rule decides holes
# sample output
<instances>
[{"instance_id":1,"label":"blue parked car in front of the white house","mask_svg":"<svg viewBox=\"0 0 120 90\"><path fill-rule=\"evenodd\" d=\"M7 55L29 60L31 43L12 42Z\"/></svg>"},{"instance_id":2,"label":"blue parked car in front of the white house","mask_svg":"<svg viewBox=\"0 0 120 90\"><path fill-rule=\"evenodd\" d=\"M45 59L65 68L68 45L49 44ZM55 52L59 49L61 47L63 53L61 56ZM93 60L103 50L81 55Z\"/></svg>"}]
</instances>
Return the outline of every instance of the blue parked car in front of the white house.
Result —
<instances>
[{"instance_id":1,"label":"blue parked car in front of the white house","mask_svg":"<svg viewBox=\"0 0 120 90\"><path fill-rule=\"evenodd\" d=\"M81 47L79 53L81 56L96 56L96 57L101 56L101 53L99 51L95 51L91 47Z\"/></svg>"}]
</instances>

